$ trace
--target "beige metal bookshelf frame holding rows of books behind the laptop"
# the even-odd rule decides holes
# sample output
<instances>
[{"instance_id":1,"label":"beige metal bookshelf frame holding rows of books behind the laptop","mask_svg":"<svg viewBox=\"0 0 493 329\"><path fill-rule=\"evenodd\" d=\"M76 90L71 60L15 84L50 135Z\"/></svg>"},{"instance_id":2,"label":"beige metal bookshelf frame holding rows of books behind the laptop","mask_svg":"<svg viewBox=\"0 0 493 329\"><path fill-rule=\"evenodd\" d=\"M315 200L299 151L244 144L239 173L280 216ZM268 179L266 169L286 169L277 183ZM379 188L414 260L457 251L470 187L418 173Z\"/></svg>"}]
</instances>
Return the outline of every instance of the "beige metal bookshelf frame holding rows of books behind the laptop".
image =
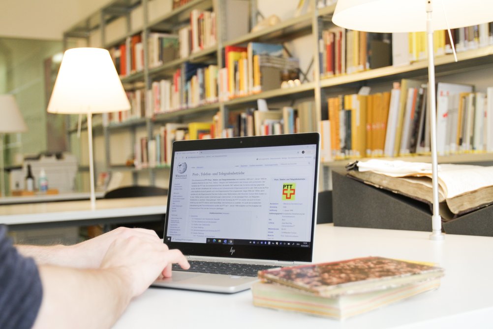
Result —
<instances>
[{"instance_id":1,"label":"beige metal bookshelf frame holding rows of books behind the laptop","mask_svg":"<svg viewBox=\"0 0 493 329\"><path fill-rule=\"evenodd\" d=\"M256 32L246 32L241 35L227 38L230 31L226 12L230 0L191 0L171 10L171 0L114 0L101 8L98 12L90 15L85 20L75 24L64 35L64 40L75 38L79 40L78 46L99 46L112 48L125 43L127 39L141 34L143 43L143 68L140 72L133 72L122 76L121 80L126 90L148 90L152 82L161 79L169 79L178 69L184 69L186 63L203 63L217 65L218 69L225 66L223 51L227 46L246 46L249 42L282 43L285 49L297 52L300 58L300 80L302 83L289 88L275 88L272 90L261 91L254 94L246 94L227 100L218 100L212 103L200 104L194 107L183 107L167 112L156 112L152 115L141 118L132 118L121 123L110 122L101 125L97 129L103 131L98 134L99 138L104 138L106 147L105 159L101 171L125 171L131 174L132 183L163 184L163 181L156 180L156 171L166 170L168 167L158 166L156 168L135 169L122 165L120 162L112 163L109 156L109 149L114 145L114 135L129 134L125 139L128 152L131 152L133 144L141 137L152 139L157 133L160 125L166 123L181 123L193 121L210 121L214 115L219 115L222 127L228 122L228 115L231 111L241 111L248 107L256 107L259 99L265 99L269 108L282 106L293 106L301 101L312 101L316 109L315 119L319 122L327 118L327 98L335 94L354 93L361 86L382 86L387 84L390 89L392 81L401 78L424 79L426 76L427 62L419 60L404 66L386 66L378 69L360 71L356 73L343 74L332 77L321 77L320 59L318 54L319 40L322 31L331 26L330 16L334 11L335 4L328 4L318 8L318 1L311 0L312 10L293 16L294 6L297 1L288 1L294 4L290 10L290 15L282 16L281 22L264 28ZM236 0L246 2L249 11L250 24L255 24L259 14L258 7L261 3L255 0ZM292 3L291 3L292 2ZM229 3L230 4L230 3ZM289 4L286 4L289 6ZM172 32L177 33L180 27L189 24L192 11L211 11L216 18L216 43L204 47L199 51L190 52L188 56L176 57L166 61L162 65L150 67L148 64L149 46L147 38L152 32ZM279 9L281 12L282 9ZM287 10L289 11L289 10ZM245 13L242 13L245 15ZM120 27L119 34L115 34L115 26ZM248 30L249 31L249 30ZM290 47L296 40L304 40L301 51L296 46ZM308 46L307 46L308 45ZM298 51L297 51L298 50ZM493 46L481 47L458 53L458 63L454 63L452 55L437 56L435 58L436 75L451 75L455 73L467 72L472 67L489 68L493 59ZM302 63L303 62L303 63ZM306 71L306 72L305 72ZM73 119L72 119L73 121ZM73 127L73 124L72 124ZM68 131L73 134L76 129ZM111 142L110 142L111 141ZM410 161L429 161L426 155L406 156L403 159ZM351 159L325 161L322 163L323 173L329 175L331 167L345 165ZM440 162L490 162L493 161L493 154L458 154L442 156ZM143 175L142 175L143 174ZM143 180L141 176L144 177ZM166 176L159 172L159 177ZM327 178L325 178L327 181ZM324 188L330 188L329 184L324 184Z\"/></svg>"}]
</instances>

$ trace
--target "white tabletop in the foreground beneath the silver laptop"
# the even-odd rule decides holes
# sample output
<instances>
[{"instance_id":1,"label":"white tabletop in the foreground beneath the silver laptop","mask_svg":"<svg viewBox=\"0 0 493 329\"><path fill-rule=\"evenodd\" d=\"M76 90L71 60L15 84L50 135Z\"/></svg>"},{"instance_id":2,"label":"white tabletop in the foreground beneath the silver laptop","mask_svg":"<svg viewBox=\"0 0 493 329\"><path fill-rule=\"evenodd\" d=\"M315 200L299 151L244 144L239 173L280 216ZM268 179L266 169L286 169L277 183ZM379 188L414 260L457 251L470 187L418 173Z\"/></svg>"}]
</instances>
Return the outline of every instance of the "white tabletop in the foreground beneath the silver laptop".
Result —
<instances>
[{"instance_id":1,"label":"white tabletop in the foreground beneath the silver laptop","mask_svg":"<svg viewBox=\"0 0 493 329\"><path fill-rule=\"evenodd\" d=\"M396 219L403 220L403 219ZM438 263L438 290L344 321L254 307L251 292L149 288L114 328L493 328L493 238L317 225L315 262L385 256Z\"/></svg>"}]
</instances>

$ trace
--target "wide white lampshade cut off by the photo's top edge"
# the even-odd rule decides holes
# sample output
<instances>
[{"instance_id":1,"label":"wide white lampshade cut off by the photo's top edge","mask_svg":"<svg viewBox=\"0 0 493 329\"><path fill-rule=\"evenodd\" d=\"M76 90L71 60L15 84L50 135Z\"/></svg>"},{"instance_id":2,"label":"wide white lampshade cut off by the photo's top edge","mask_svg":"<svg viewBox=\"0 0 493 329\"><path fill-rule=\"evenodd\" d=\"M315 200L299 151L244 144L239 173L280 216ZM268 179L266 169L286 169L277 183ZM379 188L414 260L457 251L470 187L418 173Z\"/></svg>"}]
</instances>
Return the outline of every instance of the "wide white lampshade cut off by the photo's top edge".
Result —
<instances>
[{"instance_id":1,"label":"wide white lampshade cut off by the photo's top edge","mask_svg":"<svg viewBox=\"0 0 493 329\"><path fill-rule=\"evenodd\" d=\"M338 0L332 22L367 32L426 31L426 0ZM442 3L443 2L443 3ZM492 0L432 0L433 30L493 21Z\"/></svg>"}]
</instances>

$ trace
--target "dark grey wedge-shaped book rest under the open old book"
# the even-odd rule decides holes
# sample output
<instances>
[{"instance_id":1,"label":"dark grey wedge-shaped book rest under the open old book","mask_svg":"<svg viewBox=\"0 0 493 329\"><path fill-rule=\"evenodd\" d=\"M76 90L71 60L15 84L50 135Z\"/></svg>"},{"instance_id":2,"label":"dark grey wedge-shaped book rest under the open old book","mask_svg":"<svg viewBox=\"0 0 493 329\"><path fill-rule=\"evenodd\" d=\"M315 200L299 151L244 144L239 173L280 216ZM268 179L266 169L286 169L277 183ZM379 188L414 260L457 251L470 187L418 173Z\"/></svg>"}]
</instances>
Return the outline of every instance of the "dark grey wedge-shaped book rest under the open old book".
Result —
<instances>
[{"instance_id":1,"label":"dark grey wedge-shaped book rest under the open old book","mask_svg":"<svg viewBox=\"0 0 493 329\"><path fill-rule=\"evenodd\" d=\"M431 232L426 203L392 193L332 170L334 226L402 229ZM442 224L449 234L493 236L493 205Z\"/></svg>"}]
</instances>

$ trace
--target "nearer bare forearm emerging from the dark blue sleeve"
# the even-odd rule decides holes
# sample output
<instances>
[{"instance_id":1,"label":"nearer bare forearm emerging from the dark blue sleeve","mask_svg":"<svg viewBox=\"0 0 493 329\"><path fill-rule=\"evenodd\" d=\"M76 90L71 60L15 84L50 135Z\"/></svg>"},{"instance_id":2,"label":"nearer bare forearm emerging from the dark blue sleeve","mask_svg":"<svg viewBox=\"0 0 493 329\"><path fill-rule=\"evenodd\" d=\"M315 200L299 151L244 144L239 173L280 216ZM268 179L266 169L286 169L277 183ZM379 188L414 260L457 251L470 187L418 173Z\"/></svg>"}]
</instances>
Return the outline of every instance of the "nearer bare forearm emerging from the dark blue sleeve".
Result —
<instances>
[{"instance_id":1,"label":"nearer bare forearm emerging from the dark blue sleeve","mask_svg":"<svg viewBox=\"0 0 493 329\"><path fill-rule=\"evenodd\" d=\"M109 328L131 300L119 269L39 266L43 299L34 328Z\"/></svg>"}]
</instances>

